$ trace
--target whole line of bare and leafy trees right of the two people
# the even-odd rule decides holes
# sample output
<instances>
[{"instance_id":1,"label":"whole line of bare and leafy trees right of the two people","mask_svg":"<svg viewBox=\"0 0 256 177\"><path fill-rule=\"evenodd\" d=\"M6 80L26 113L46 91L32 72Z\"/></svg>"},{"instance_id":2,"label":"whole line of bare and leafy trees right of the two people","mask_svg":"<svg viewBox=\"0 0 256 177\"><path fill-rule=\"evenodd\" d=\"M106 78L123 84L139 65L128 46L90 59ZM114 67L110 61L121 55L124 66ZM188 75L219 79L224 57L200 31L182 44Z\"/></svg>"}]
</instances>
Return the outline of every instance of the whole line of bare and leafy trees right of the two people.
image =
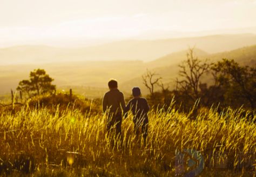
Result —
<instances>
[{"instance_id":1,"label":"whole line of bare and leafy trees right of the two people","mask_svg":"<svg viewBox=\"0 0 256 177\"><path fill-rule=\"evenodd\" d=\"M163 84L156 72L147 70L142 76L150 94L147 99L154 103L170 105L175 97L176 103L189 112L195 103L199 107L244 106L255 110L256 107L256 67L241 66L233 59L222 59L212 63L201 60L190 48L187 59L179 65L179 78L173 81L175 88ZM204 79L203 79L204 78ZM207 82L203 81L207 78ZM161 91L155 92L156 87Z\"/></svg>"}]
</instances>

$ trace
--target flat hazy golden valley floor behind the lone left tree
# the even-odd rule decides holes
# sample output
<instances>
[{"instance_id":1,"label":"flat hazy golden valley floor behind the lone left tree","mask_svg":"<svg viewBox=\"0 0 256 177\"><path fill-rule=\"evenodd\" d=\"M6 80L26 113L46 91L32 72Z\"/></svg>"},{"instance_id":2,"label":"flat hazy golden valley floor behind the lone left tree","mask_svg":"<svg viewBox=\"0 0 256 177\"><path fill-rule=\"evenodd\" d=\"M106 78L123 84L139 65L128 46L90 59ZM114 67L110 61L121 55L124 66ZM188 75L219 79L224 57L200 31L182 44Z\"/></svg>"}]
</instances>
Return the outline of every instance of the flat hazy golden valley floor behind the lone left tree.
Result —
<instances>
[{"instance_id":1,"label":"flat hazy golden valley floor behind the lone left tree","mask_svg":"<svg viewBox=\"0 0 256 177\"><path fill-rule=\"evenodd\" d=\"M107 88L107 81L116 78L121 83L142 74L146 67L142 61L63 62L35 65L0 66L0 94L15 90L19 81L29 79L30 71L44 69L55 80L57 88L64 86L90 86ZM122 85L119 85L122 86Z\"/></svg>"}]
</instances>

